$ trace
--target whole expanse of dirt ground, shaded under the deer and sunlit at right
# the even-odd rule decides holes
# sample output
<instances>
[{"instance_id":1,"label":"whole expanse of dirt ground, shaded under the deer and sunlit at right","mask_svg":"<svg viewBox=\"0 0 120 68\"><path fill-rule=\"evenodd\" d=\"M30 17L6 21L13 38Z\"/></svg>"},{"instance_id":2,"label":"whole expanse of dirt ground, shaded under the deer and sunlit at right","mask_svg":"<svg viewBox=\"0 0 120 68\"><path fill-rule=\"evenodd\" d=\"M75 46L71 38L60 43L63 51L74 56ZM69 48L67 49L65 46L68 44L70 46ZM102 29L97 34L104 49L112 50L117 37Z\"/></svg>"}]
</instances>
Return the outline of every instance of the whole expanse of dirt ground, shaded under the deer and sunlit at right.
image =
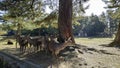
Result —
<instances>
[{"instance_id":1,"label":"whole expanse of dirt ground, shaded under the deer and sunlit at right","mask_svg":"<svg viewBox=\"0 0 120 68\"><path fill-rule=\"evenodd\" d=\"M75 40L81 48L65 52L59 60L44 52L21 54L15 45L6 45L7 40L0 42L0 51L40 64L43 68L120 68L120 49L106 47L113 38L76 38ZM62 58L64 59L61 60Z\"/></svg>"}]
</instances>

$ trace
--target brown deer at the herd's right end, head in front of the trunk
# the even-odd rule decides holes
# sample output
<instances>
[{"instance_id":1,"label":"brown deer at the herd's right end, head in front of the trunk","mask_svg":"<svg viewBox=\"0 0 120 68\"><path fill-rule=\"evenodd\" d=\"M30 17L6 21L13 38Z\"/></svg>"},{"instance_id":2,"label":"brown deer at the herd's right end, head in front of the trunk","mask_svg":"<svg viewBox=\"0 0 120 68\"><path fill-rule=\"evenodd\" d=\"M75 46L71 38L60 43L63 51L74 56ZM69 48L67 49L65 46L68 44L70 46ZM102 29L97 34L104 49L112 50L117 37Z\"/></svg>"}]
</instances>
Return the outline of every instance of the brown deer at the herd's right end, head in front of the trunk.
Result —
<instances>
[{"instance_id":1,"label":"brown deer at the herd's right end, head in front of the trunk","mask_svg":"<svg viewBox=\"0 0 120 68\"><path fill-rule=\"evenodd\" d=\"M72 44L71 38L68 38L67 41L64 43L56 43L53 38L49 42L49 50L52 52L52 55L54 55L57 58L57 55L60 53L61 50L65 49L67 46Z\"/></svg>"}]
</instances>

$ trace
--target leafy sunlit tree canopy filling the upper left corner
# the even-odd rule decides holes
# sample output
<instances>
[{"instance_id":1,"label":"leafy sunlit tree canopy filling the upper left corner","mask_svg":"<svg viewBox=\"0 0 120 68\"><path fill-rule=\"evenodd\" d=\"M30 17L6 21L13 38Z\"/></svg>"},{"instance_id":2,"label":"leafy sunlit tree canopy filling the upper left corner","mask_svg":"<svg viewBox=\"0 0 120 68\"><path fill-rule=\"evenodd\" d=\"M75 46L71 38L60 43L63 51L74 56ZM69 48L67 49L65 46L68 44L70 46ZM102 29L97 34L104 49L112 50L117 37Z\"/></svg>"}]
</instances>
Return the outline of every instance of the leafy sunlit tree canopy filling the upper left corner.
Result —
<instances>
[{"instance_id":1,"label":"leafy sunlit tree canopy filling the upper left corner","mask_svg":"<svg viewBox=\"0 0 120 68\"><path fill-rule=\"evenodd\" d=\"M35 8L35 6L40 7L41 1L34 1L34 0L2 0L0 1L0 10L6 12L3 15L3 19L11 24L17 26L17 32L21 32L21 28L24 27L25 22L28 20L33 20L40 16L41 8ZM32 21L33 22L33 21Z\"/></svg>"}]
</instances>

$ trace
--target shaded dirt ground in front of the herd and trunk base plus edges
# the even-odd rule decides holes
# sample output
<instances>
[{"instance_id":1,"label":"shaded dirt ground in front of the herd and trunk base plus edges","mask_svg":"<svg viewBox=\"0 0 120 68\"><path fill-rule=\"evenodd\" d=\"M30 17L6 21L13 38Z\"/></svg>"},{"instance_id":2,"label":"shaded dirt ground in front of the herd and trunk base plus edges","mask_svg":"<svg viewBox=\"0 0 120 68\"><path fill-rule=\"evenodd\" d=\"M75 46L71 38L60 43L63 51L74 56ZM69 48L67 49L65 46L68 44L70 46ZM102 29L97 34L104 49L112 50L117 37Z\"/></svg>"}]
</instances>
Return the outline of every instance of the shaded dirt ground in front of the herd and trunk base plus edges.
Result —
<instances>
[{"instance_id":1,"label":"shaded dirt ground in front of the herd and trunk base plus edges","mask_svg":"<svg viewBox=\"0 0 120 68\"><path fill-rule=\"evenodd\" d=\"M5 45L8 46L8 45ZM59 56L59 59L56 59L54 56L52 56L50 53L46 53L44 51L39 51L36 53L20 53L19 48L5 48L1 50L4 53L7 53L9 55L13 55L15 57L18 57L22 61L28 61L32 62L33 64L39 65L42 68L47 68L47 67L57 67L60 66L62 63L66 62L71 62L75 63L78 62L78 65L85 64L83 63L84 61L77 61L77 59L83 59L83 58L78 58L77 53L75 52L75 49L73 51L64 51L64 54ZM76 61L74 61L76 60ZM20 62L20 61L18 61ZM68 64L69 66L69 64ZM74 66L74 65L72 65Z\"/></svg>"}]
</instances>

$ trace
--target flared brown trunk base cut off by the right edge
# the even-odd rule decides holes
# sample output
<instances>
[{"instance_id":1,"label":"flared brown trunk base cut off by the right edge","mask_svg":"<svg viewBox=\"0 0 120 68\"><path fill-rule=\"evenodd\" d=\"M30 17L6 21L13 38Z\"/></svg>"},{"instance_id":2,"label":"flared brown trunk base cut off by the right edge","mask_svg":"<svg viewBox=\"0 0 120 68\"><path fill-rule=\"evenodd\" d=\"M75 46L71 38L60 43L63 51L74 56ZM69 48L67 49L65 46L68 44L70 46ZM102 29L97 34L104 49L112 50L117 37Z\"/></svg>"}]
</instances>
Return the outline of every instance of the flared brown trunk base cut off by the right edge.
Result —
<instances>
[{"instance_id":1,"label":"flared brown trunk base cut off by the right edge","mask_svg":"<svg viewBox=\"0 0 120 68\"><path fill-rule=\"evenodd\" d=\"M115 39L112 43L109 44L109 46L120 47L120 23L119 23L119 26L118 26L118 31L116 33Z\"/></svg>"}]
</instances>

